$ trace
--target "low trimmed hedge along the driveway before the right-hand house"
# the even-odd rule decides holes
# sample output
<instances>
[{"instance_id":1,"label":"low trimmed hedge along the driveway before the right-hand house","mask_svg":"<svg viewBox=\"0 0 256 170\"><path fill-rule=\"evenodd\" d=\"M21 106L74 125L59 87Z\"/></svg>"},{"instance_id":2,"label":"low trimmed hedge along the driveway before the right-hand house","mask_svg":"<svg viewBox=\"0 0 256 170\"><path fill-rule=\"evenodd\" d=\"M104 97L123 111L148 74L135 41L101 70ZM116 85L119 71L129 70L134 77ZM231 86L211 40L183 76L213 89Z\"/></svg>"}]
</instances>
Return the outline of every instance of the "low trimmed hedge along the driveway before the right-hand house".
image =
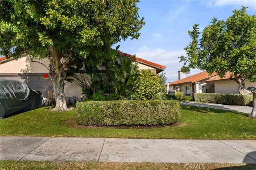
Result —
<instances>
[{"instance_id":1,"label":"low trimmed hedge along the driveway before the right-hand house","mask_svg":"<svg viewBox=\"0 0 256 170\"><path fill-rule=\"evenodd\" d=\"M252 104L252 95L194 93L194 100L196 102L248 106Z\"/></svg>"}]
</instances>

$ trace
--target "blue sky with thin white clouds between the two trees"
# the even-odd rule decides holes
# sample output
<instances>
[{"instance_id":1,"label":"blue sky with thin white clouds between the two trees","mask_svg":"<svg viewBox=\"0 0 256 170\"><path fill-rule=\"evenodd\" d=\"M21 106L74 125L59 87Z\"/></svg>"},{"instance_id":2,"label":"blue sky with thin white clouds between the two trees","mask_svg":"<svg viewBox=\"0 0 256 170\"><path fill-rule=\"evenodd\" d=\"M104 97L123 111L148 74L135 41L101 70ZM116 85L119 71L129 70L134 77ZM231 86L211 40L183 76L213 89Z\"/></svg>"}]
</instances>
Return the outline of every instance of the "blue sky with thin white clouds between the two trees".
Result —
<instances>
[{"instance_id":1,"label":"blue sky with thin white clouds between the two trees","mask_svg":"<svg viewBox=\"0 0 256 170\"><path fill-rule=\"evenodd\" d=\"M186 55L183 50L191 41L188 30L194 23L200 31L210 24L213 17L226 20L234 9L248 6L247 13L255 15L256 0L142 0L137 6L138 14L145 18L146 25L140 30L138 40L126 39L115 44L119 50L166 66L164 72L168 82L178 80L178 56ZM195 74L200 70L192 70ZM185 75L182 75L185 77Z\"/></svg>"}]
</instances>

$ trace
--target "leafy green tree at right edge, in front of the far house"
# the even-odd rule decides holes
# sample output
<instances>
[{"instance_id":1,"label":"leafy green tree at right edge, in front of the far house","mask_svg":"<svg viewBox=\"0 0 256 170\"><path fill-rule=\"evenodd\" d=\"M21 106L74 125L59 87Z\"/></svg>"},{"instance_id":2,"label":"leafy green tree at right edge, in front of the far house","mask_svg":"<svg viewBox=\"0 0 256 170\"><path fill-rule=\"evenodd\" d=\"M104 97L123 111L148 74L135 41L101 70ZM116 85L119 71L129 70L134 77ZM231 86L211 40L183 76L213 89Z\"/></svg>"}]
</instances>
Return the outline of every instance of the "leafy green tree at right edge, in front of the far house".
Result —
<instances>
[{"instance_id":1,"label":"leafy green tree at right edge, in front of the far house","mask_svg":"<svg viewBox=\"0 0 256 170\"><path fill-rule=\"evenodd\" d=\"M230 79L238 83L239 93L253 94L250 116L256 117L256 88L245 88L244 83L246 79L256 81L256 16L248 15L246 7L233 13L226 21L213 18L202 34L198 24L188 31L192 41L184 48L187 57L179 57L184 63L182 72L200 68L209 74L217 72L222 78L231 72Z\"/></svg>"}]
</instances>

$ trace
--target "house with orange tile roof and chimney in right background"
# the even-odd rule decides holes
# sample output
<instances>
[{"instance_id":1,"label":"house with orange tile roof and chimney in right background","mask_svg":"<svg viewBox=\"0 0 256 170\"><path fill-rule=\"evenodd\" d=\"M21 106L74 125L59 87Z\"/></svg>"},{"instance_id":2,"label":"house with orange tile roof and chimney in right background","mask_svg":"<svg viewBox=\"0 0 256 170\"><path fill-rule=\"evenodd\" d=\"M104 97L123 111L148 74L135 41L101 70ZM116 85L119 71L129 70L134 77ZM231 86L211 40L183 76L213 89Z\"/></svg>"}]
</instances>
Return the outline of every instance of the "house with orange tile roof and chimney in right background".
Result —
<instances>
[{"instance_id":1,"label":"house with orange tile roof and chimney in right background","mask_svg":"<svg viewBox=\"0 0 256 170\"><path fill-rule=\"evenodd\" d=\"M180 71L178 71L180 79ZM224 78L217 73L209 75L206 71L190 75L186 78L165 84L169 90L184 92L184 96L193 96L193 93L218 93L238 94L238 83L230 80L231 73L228 72ZM244 81L246 88L256 86L256 82Z\"/></svg>"}]
</instances>

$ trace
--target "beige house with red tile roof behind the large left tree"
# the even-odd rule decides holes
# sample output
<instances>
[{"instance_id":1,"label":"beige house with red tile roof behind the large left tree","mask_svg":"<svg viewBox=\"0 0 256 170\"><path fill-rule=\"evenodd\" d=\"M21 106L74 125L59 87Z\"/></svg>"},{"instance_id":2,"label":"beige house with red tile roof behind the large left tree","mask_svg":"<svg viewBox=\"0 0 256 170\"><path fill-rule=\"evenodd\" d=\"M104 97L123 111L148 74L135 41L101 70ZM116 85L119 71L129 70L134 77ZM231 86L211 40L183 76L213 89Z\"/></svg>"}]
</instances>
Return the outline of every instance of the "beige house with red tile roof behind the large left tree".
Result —
<instances>
[{"instance_id":1,"label":"beige house with red tile roof behind the large left tree","mask_svg":"<svg viewBox=\"0 0 256 170\"><path fill-rule=\"evenodd\" d=\"M132 57L132 55L122 53L125 57ZM47 98L47 91L53 90L51 79L45 80L42 76L49 71L45 66L49 66L50 61L48 59L33 59L30 61L28 54L22 55L18 60L10 59L6 57L0 58L0 77L19 80L25 82L30 88L42 92L44 98ZM40 63L37 63L40 62ZM166 66L153 63L141 58L136 57L134 62L138 62L139 70L150 69L152 72L158 74L162 72ZM82 89L75 83L67 83L64 86L64 92L66 97L76 96L80 99Z\"/></svg>"}]
</instances>

